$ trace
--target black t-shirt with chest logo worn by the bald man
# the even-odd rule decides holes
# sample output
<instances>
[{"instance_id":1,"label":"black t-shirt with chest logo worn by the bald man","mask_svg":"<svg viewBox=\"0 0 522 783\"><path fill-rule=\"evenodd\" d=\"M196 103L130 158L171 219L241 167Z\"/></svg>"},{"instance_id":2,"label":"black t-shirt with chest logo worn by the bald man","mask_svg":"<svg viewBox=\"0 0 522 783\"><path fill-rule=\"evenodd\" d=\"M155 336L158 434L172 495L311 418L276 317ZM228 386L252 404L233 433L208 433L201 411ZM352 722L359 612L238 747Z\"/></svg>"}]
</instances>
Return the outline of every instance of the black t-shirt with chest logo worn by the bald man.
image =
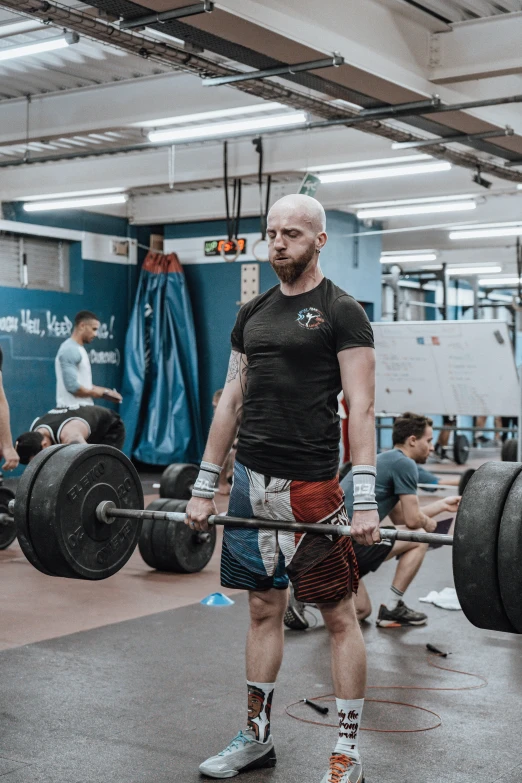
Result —
<instances>
[{"instance_id":1,"label":"black t-shirt with chest logo worn by the bald man","mask_svg":"<svg viewBox=\"0 0 522 783\"><path fill-rule=\"evenodd\" d=\"M232 349L246 354L247 386L237 459L268 476L326 481L339 467L337 354L373 348L363 308L324 278L285 296L279 286L238 313Z\"/></svg>"}]
</instances>

